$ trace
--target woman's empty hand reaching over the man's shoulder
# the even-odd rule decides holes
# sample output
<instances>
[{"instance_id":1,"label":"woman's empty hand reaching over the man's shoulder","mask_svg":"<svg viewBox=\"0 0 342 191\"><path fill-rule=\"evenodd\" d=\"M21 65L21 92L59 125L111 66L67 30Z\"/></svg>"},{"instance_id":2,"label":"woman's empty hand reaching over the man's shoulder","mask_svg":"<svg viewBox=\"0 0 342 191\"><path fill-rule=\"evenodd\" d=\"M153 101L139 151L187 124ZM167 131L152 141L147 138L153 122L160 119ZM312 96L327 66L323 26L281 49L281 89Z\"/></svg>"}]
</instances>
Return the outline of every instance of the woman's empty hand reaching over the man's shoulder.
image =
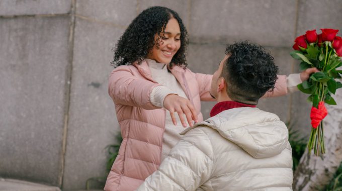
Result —
<instances>
[{"instance_id":1,"label":"woman's empty hand reaching over the man's shoulder","mask_svg":"<svg viewBox=\"0 0 342 191\"><path fill-rule=\"evenodd\" d=\"M174 125L177 125L175 112L178 113L183 127L187 127L183 114L187 117L190 127L193 126L193 121L198 123L195 107L188 99L182 98L176 94L168 94L164 99L164 108L170 112Z\"/></svg>"}]
</instances>

